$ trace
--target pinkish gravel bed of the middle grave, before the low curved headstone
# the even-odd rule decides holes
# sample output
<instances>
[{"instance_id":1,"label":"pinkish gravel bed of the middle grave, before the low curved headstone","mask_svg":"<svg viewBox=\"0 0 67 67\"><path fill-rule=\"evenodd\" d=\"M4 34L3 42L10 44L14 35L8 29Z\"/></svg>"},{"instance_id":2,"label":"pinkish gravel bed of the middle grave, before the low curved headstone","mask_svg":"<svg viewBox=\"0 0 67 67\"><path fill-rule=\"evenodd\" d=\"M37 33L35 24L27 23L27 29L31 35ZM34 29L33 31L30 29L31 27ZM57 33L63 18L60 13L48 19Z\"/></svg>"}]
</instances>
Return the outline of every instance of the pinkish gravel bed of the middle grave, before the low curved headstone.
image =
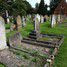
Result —
<instances>
[{"instance_id":1,"label":"pinkish gravel bed of the middle grave, before the low curved headstone","mask_svg":"<svg viewBox=\"0 0 67 67\"><path fill-rule=\"evenodd\" d=\"M13 45L13 47L21 51L31 53L36 56L41 56L44 58L48 58L54 51L54 48L47 48L47 47L32 45L32 44L23 43L23 42L21 45Z\"/></svg>"}]
</instances>

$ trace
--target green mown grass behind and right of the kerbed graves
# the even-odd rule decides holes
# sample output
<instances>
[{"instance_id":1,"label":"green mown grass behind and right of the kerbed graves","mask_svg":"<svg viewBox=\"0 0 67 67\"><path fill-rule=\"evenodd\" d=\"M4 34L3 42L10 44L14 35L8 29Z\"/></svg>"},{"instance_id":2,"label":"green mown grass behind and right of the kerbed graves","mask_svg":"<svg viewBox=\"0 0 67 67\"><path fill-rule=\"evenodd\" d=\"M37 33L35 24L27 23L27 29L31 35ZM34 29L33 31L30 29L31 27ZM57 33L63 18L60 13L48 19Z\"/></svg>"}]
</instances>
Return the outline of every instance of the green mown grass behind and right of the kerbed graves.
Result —
<instances>
[{"instance_id":1,"label":"green mown grass behind and right of the kerbed graves","mask_svg":"<svg viewBox=\"0 0 67 67\"><path fill-rule=\"evenodd\" d=\"M55 58L54 67L67 67L67 27L65 24L55 28L50 28L49 22L41 24L41 33L64 35L64 42Z\"/></svg>"}]
</instances>

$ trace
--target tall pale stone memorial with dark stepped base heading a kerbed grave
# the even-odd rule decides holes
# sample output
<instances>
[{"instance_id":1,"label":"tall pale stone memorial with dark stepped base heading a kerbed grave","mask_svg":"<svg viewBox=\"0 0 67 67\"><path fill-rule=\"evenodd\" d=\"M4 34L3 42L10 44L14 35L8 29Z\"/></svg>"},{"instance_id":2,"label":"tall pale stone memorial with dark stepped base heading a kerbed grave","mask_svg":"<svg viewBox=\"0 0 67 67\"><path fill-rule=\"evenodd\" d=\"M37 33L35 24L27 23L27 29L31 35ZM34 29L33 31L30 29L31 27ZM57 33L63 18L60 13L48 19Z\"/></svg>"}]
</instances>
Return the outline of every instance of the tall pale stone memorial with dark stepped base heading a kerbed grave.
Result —
<instances>
[{"instance_id":1,"label":"tall pale stone memorial with dark stepped base heading a kerbed grave","mask_svg":"<svg viewBox=\"0 0 67 67\"><path fill-rule=\"evenodd\" d=\"M34 23L34 31L31 31L31 33L29 34L29 38L31 39L36 39L38 40L41 36L40 36L40 15L35 15L35 17L33 18L33 23Z\"/></svg>"}]
</instances>

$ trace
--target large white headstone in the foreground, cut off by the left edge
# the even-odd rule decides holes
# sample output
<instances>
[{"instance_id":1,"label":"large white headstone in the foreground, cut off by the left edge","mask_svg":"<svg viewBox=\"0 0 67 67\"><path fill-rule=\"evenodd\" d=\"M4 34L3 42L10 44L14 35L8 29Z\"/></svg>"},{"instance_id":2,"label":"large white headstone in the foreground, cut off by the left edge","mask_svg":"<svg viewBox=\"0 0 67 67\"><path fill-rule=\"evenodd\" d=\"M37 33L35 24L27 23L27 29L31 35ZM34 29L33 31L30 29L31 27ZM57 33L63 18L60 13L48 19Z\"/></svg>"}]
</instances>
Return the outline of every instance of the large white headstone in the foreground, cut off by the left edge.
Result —
<instances>
[{"instance_id":1,"label":"large white headstone in the foreground, cut off by the left edge","mask_svg":"<svg viewBox=\"0 0 67 67\"><path fill-rule=\"evenodd\" d=\"M0 50L6 49L6 34L5 34L5 25L4 19L0 16Z\"/></svg>"}]
</instances>

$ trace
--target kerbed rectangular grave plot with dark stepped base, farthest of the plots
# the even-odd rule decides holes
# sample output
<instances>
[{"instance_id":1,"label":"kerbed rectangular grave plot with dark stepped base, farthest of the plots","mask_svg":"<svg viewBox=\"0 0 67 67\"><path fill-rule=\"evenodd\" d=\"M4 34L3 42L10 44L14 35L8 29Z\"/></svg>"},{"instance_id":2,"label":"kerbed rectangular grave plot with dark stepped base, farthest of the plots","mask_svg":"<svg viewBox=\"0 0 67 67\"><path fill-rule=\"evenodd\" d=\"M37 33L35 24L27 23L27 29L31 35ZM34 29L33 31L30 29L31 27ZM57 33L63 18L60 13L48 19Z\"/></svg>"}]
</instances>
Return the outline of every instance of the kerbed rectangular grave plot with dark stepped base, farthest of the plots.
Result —
<instances>
[{"instance_id":1,"label":"kerbed rectangular grave plot with dark stepped base, farthest of the plots","mask_svg":"<svg viewBox=\"0 0 67 67\"><path fill-rule=\"evenodd\" d=\"M62 35L54 35L54 34L40 34L40 38L37 39L37 33L32 31L28 37L23 38L23 42L41 44L42 46L47 47L60 47L63 42L64 37ZM48 44L48 45L46 45Z\"/></svg>"}]
</instances>

